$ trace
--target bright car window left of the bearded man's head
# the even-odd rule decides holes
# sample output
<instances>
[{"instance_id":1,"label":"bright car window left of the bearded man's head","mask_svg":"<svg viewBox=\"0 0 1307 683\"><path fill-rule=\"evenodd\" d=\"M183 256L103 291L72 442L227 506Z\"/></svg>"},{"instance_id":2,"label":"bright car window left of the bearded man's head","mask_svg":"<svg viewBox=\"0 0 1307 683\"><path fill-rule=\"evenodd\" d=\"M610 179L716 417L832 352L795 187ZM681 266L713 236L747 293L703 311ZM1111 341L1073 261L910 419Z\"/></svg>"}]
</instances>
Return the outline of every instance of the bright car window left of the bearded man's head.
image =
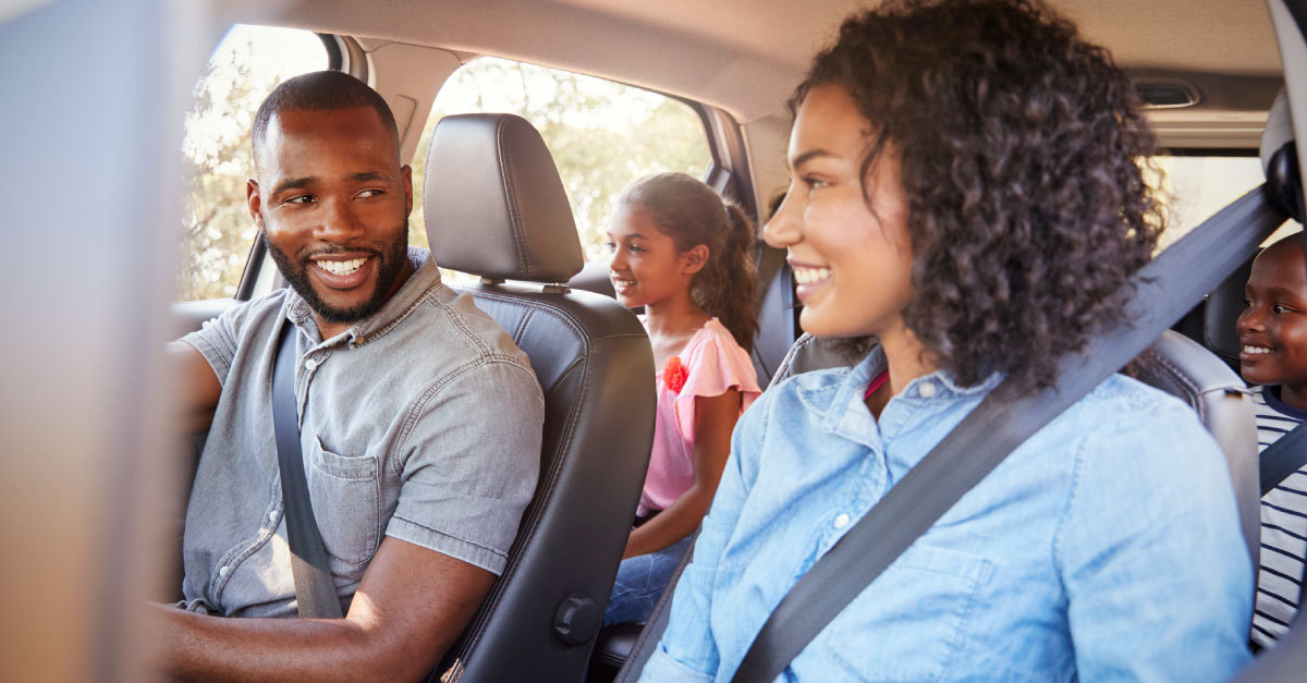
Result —
<instances>
[{"instance_id":1,"label":"bright car window left of the bearded man's head","mask_svg":"<svg viewBox=\"0 0 1307 683\"><path fill-rule=\"evenodd\" d=\"M237 25L214 50L186 115L178 301L235 296L256 234L244 203L254 114L277 84L327 64L322 39L297 29Z\"/></svg>"}]
</instances>

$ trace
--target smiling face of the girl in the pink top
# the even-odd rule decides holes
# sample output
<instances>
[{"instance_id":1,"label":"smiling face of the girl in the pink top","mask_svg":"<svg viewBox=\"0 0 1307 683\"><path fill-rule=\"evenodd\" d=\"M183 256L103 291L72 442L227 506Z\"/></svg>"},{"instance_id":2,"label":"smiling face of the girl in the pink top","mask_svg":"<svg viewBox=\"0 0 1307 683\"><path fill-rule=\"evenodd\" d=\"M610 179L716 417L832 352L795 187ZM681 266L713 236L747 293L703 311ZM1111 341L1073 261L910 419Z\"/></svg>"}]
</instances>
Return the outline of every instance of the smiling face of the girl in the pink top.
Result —
<instances>
[{"instance_id":1,"label":"smiling face of the girl in the pink top","mask_svg":"<svg viewBox=\"0 0 1307 683\"><path fill-rule=\"evenodd\" d=\"M690 253L659 229L640 207L621 205L608 224L608 277L623 306L659 304L689 290L698 271Z\"/></svg>"}]
</instances>

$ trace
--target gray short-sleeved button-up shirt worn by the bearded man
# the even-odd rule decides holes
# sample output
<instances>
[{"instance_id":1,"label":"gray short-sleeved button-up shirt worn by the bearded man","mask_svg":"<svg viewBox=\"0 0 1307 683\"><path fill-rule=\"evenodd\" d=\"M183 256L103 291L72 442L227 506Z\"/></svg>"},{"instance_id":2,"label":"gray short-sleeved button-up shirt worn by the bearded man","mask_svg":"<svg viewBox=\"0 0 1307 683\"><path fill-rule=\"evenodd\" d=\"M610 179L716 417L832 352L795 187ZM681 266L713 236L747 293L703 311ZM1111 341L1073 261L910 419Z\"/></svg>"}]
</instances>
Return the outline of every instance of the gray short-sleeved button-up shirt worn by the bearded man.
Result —
<instances>
[{"instance_id":1,"label":"gray short-sleeved button-up shirt worn by the bearded man","mask_svg":"<svg viewBox=\"0 0 1307 683\"><path fill-rule=\"evenodd\" d=\"M277 332L297 328L295 396L314 516L342 603L388 535L503 570L540 468L544 398L472 297L418 267L375 315L322 340L293 290L182 338L222 382L186 517L188 608L294 616L272 423Z\"/></svg>"}]
</instances>

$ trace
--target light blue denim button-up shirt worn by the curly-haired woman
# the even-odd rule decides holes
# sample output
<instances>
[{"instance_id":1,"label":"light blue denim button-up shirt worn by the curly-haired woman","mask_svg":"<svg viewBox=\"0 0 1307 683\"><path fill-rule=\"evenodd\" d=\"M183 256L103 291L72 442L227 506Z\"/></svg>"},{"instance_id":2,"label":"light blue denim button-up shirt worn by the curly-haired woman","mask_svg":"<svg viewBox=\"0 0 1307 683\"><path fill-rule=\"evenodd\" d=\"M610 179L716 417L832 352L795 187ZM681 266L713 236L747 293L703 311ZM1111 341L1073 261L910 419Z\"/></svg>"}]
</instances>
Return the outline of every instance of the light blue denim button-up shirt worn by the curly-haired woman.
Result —
<instances>
[{"instance_id":1,"label":"light blue denim button-up shirt worn by the curly-haired woman","mask_svg":"<svg viewBox=\"0 0 1307 683\"><path fill-rule=\"evenodd\" d=\"M640 680L729 680L812 565L997 378L885 366L766 391ZM784 680L1223 680L1248 658L1252 569L1225 459L1180 402L1121 376L1012 453L791 663Z\"/></svg>"}]
</instances>

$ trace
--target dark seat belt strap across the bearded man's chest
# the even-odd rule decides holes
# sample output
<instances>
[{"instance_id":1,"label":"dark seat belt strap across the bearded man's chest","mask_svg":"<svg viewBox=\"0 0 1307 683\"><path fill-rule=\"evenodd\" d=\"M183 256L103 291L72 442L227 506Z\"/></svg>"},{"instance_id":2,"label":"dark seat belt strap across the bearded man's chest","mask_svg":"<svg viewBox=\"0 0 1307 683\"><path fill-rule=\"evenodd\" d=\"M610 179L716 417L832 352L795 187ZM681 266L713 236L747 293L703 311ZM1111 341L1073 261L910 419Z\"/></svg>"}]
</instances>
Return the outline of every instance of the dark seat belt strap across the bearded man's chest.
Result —
<instances>
[{"instance_id":1,"label":"dark seat belt strap across the bearded man's chest","mask_svg":"<svg viewBox=\"0 0 1307 683\"><path fill-rule=\"evenodd\" d=\"M301 619L340 619L340 597L327 567L327 548L318 531L305 457L299 450L299 410L295 407L295 326L284 321L272 374L272 421L277 430L277 467L286 508L286 542L295 602Z\"/></svg>"}]
</instances>

